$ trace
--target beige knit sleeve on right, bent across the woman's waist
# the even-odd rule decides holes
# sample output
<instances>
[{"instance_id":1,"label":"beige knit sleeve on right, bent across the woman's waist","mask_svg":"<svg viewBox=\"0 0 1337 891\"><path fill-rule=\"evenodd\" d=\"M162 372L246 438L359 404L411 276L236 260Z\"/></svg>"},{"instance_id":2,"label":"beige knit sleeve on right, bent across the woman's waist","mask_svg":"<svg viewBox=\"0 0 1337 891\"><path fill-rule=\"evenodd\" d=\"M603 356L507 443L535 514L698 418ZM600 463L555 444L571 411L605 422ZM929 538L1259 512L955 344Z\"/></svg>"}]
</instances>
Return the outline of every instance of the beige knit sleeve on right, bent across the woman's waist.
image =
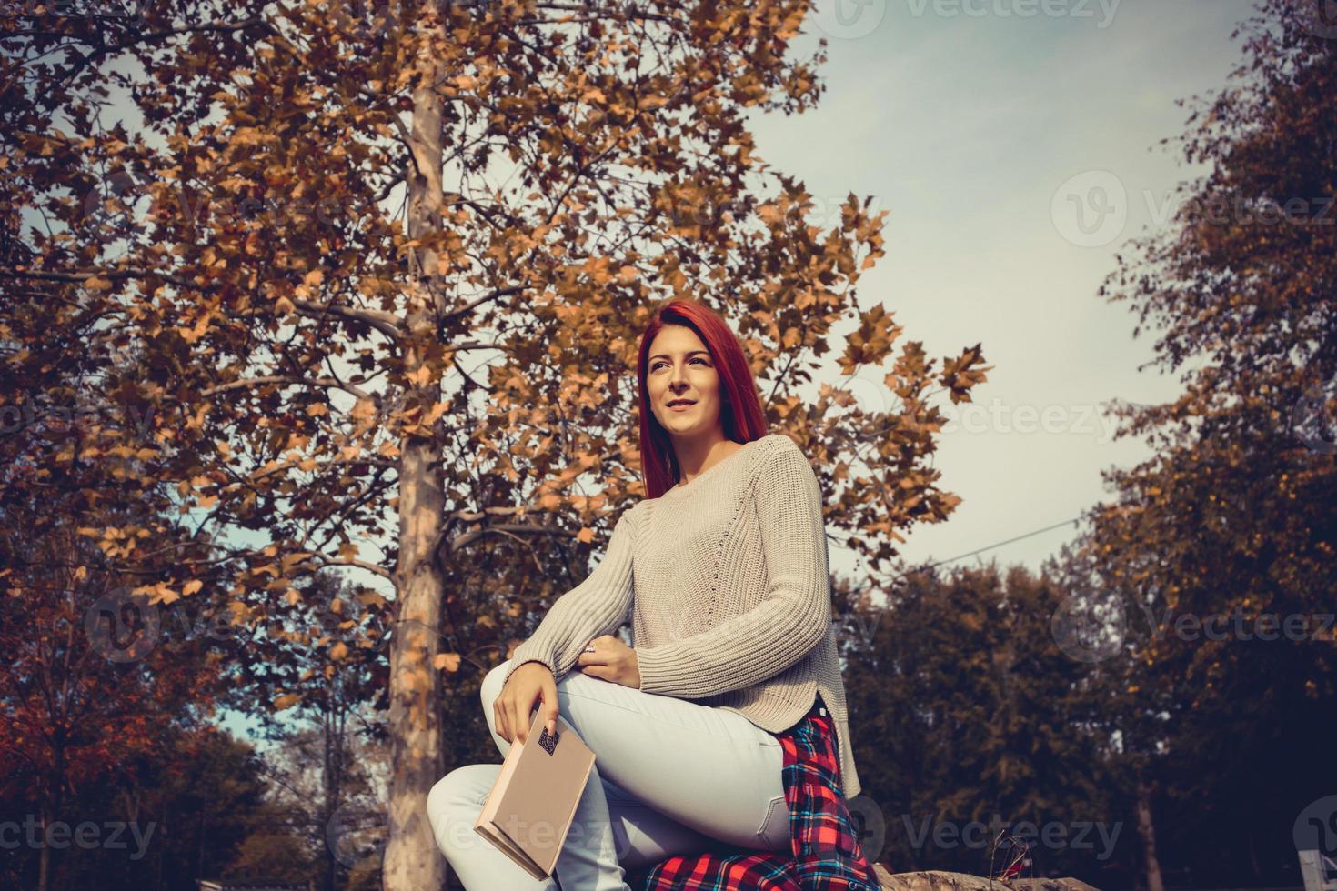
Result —
<instances>
[{"instance_id":1,"label":"beige knit sleeve on right, bent across the woman's waist","mask_svg":"<svg viewBox=\"0 0 1337 891\"><path fill-rule=\"evenodd\" d=\"M826 636L830 580L817 474L785 437L755 486L765 596L709 631L636 649L647 693L701 699L745 689L785 671Z\"/></svg>"}]
</instances>

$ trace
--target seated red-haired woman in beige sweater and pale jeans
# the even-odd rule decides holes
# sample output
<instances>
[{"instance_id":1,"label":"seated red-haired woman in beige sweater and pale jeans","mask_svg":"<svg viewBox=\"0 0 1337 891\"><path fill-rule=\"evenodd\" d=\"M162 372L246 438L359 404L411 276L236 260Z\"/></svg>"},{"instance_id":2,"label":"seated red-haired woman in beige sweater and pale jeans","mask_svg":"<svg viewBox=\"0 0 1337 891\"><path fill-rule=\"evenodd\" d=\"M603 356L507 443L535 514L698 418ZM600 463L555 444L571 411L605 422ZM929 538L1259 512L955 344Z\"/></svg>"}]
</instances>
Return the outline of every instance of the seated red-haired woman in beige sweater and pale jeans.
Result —
<instances>
[{"instance_id":1,"label":"seated red-haired woman in beige sweater and pale jeans","mask_svg":"<svg viewBox=\"0 0 1337 891\"><path fill-rule=\"evenodd\" d=\"M789 852L781 735L825 707L832 775L846 797L860 791L812 466L789 437L765 433L747 358L705 306L656 313L638 377L648 497L481 689L503 755L536 704L550 732L562 721L595 752L555 870L566 891L622 891L626 870L674 854ZM627 620L632 647L614 636ZM471 764L441 779L428 796L433 834L469 891L550 891L472 831L499 771Z\"/></svg>"}]
</instances>

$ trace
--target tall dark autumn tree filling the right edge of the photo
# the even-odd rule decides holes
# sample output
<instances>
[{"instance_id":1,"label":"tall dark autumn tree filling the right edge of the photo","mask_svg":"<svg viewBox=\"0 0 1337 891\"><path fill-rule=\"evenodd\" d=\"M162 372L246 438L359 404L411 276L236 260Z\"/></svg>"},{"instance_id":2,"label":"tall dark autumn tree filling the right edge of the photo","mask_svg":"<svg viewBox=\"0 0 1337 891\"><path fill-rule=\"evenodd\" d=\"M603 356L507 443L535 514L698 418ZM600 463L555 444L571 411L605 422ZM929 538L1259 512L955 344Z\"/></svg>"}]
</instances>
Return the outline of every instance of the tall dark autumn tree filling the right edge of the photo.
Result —
<instances>
[{"instance_id":1,"label":"tall dark autumn tree filling the right edge of the photo","mask_svg":"<svg viewBox=\"0 0 1337 891\"><path fill-rule=\"evenodd\" d=\"M1080 557L1091 596L1127 625L1108 672L1124 681L1114 711L1151 888L1155 803L1214 840L1163 846L1198 858L1199 883L1263 882L1294 852L1258 827L1290 826L1337 780L1320 748L1337 696L1324 629L1337 581L1337 35L1316 4L1259 12L1235 32L1237 83L1195 103L1181 138L1209 172L1100 289L1136 309L1135 335L1161 331L1154 365L1185 383L1167 405L1120 409L1119 435L1146 435L1155 454L1104 474L1114 494Z\"/></svg>"}]
</instances>

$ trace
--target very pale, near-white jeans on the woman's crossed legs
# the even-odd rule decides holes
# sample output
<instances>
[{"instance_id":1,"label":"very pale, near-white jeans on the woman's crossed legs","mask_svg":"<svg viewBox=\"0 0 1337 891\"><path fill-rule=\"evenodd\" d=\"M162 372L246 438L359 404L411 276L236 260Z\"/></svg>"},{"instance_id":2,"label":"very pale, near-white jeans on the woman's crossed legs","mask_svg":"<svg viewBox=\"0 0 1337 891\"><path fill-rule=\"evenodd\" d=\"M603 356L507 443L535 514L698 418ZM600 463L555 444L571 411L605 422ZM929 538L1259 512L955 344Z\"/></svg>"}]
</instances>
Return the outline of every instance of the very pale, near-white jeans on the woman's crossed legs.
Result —
<instances>
[{"instance_id":1,"label":"very pale, near-white jeans on the woman's crossed legs","mask_svg":"<svg viewBox=\"0 0 1337 891\"><path fill-rule=\"evenodd\" d=\"M483 713L509 661L483 680ZM536 703L537 707L537 703ZM614 684L579 668L558 681L559 721L595 753L555 868L536 880L473 831L500 764L468 764L427 799L432 834L468 891L624 891L626 871L673 854L789 850L779 740L737 712ZM532 712L531 712L532 715Z\"/></svg>"}]
</instances>

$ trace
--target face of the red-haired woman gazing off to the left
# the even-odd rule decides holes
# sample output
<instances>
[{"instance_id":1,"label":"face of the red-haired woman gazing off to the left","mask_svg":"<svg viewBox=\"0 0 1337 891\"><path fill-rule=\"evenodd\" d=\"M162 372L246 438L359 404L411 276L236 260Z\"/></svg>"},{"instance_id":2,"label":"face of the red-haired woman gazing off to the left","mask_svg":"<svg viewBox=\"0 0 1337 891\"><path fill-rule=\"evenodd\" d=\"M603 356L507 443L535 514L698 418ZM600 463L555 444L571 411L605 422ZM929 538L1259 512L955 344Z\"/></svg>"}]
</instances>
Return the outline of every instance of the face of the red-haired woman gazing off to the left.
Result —
<instances>
[{"instance_id":1,"label":"face of the red-haired woman gazing off to the left","mask_svg":"<svg viewBox=\"0 0 1337 891\"><path fill-rule=\"evenodd\" d=\"M722 430L719 373L706 345L685 325L666 325L650 343L646 365L650 410L674 439ZM691 405L673 407L670 402Z\"/></svg>"}]
</instances>

